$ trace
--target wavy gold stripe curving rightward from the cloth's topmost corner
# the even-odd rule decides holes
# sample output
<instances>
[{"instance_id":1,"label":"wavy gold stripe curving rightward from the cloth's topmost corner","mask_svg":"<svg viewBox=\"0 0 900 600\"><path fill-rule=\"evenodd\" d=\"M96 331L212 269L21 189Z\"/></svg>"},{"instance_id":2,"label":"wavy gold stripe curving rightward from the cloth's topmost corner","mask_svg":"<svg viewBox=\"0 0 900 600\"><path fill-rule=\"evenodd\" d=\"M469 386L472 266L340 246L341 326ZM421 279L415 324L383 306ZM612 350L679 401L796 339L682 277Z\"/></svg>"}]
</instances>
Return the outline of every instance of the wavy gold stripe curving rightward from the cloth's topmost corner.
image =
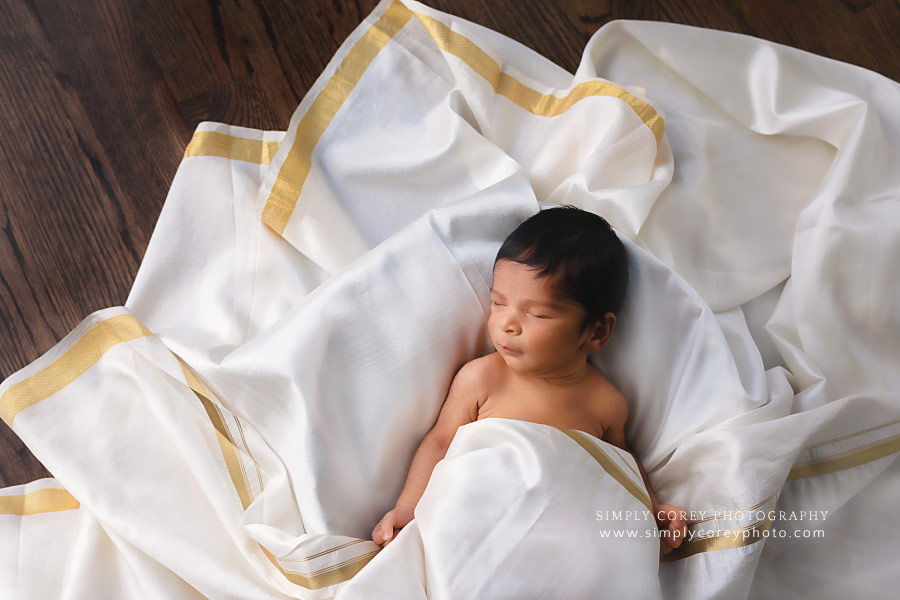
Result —
<instances>
[{"instance_id":1,"label":"wavy gold stripe curving rightward from the cloth's topmost corner","mask_svg":"<svg viewBox=\"0 0 900 600\"><path fill-rule=\"evenodd\" d=\"M662 140L665 122L652 106L626 92L624 89L608 81L585 81L576 85L564 97L553 94L541 94L516 78L500 70L500 65L484 50L468 38L451 30L441 21L413 13L438 47L453 54L481 75L494 91L505 96L521 108L541 117L555 117L569 110L576 102L591 96L612 96L619 98L640 117L644 125L650 128L656 138L656 144Z\"/></svg>"}]
</instances>

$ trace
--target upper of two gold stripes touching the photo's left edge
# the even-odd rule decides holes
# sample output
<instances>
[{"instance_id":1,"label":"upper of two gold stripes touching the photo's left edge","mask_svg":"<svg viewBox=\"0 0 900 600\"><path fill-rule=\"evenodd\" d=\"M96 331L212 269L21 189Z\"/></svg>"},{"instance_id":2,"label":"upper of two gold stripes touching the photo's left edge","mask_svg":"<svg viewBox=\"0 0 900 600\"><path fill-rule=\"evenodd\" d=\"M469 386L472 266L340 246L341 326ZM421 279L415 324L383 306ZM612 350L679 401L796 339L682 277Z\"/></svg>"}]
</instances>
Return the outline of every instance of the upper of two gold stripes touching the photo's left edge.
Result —
<instances>
[{"instance_id":1,"label":"upper of two gold stripes touching the photo's left edge","mask_svg":"<svg viewBox=\"0 0 900 600\"><path fill-rule=\"evenodd\" d=\"M12 427L20 412L72 383L110 348L148 335L153 333L130 314L117 315L95 323L49 366L11 385L0 397L0 418Z\"/></svg>"}]
</instances>

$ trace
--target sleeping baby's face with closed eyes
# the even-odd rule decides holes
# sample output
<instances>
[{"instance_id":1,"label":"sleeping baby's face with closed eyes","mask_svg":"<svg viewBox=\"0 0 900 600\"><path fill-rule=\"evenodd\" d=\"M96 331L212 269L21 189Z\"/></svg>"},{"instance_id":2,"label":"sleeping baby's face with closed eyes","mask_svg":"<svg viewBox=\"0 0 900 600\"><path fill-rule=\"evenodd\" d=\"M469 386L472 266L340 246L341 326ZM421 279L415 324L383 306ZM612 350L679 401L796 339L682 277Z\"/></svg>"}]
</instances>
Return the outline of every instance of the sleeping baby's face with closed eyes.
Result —
<instances>
[{"instance_id":1,"label":"sleeping baby's face with closed eyes","mask_svg":"<svg viewBox=\"0 0 900 600\"><path fill-rule=\"evenodd\" d=\"M541 376L584 360L593 333L579 333L584 316L582 306L555 297L552 282L531 267L497 261L488 334L511 369Z\"/></svg>"}]
</instances>

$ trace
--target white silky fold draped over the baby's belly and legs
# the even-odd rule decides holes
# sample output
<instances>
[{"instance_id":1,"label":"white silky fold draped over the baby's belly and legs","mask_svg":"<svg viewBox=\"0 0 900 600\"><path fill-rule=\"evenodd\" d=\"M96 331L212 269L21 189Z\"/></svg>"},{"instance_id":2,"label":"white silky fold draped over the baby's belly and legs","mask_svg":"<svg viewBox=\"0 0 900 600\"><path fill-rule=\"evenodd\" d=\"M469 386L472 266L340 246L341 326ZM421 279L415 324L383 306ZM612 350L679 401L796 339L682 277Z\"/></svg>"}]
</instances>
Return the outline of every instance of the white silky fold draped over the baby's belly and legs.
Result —
<instances>
[{"instance_id":1,"label":"white silky fold draped over the baby's belly and legs","mask_svg":"<svg viewBox=\"0 0 900 600\"><path fill-rule=\"evenodd\" d=\"M572 435L642 486L628 453ZM590 598L599 590L659 598L659 539L643 498L554 427L469 423L435 467L415 520L339 598Z\"/></svg>"}]
</instances>

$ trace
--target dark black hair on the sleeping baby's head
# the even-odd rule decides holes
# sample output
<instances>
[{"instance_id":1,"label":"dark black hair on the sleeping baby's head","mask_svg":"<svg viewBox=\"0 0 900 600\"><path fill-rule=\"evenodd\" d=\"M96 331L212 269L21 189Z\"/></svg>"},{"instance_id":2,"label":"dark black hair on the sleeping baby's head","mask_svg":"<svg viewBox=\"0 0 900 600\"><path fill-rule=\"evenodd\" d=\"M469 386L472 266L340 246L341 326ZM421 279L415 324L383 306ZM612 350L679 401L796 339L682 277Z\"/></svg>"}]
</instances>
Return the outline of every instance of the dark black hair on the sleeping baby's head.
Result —
<instances>
[{"instance_id":1,"label":"dark black hair on the sleeping baby's head","mask_svg":"<svg viewBox=\"0 0 900 600\"><path fill-rule=\"evenodd\" d=\"M618 315L625 302L625 246L606 219L576 206L541 210L520 223L503 241L494 266L500 260L553 277L557 294L587 311L582 332L608 312Z\"/></svg>"}]
</instances>

